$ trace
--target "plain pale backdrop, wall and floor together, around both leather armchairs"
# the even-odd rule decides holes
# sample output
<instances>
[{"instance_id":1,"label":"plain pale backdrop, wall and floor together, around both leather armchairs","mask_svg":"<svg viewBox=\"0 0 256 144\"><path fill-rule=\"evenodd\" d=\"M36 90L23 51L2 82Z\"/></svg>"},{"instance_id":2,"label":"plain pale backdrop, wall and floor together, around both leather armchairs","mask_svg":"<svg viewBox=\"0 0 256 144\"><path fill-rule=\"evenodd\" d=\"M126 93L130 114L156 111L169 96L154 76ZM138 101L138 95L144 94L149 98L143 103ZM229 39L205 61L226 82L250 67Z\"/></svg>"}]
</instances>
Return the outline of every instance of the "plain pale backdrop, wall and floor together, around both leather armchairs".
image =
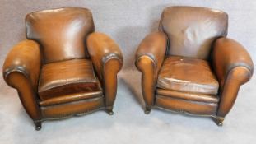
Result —
<instances>
[{"instance_id":1,"label":"plain pale backdrop, wall and floor together, around both leather armchairs","mask_svg":"<svg viewBox=\"0 0 256 144\"><path fill-rule=\"evenodd\" d=\"M153 109L142 110L141 75L134 53L142 39L157 30L169 6L220 9L229 14L228 37L236 39L256 62L256 1L249 0L0 0L0 143L254 143L256 81L240 88L234 109L219 128L209 118ZM96 31L108 34L123 52L114 115L104 111L43 123L40 132L21 106L17 93L2 79L2 63L13 45L26 39L27 13L58 7L91 9ZM255 72L254 72L255 75Z\"/></svg>"}]
</instances>

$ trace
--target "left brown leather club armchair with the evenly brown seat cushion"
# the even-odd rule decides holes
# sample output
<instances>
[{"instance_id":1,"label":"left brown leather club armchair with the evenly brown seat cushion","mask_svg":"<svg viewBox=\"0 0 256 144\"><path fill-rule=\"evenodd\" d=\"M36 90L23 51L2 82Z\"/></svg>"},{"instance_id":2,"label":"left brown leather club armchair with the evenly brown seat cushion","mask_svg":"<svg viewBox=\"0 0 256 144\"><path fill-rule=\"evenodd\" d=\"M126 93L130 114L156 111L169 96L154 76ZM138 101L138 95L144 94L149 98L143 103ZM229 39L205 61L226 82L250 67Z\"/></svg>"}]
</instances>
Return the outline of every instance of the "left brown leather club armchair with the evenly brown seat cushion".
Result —
<instances>
[{"instance_id":1,"label":"left brown leather club armchair with the evenly brown seat cushion","mask_svg":"<svg viewBox=\"0 0 256 144\"><path fill-rule=\"evenodd\" d=\"M14 46L3 77L18 91L36 130L44 120L106 109L113 114L122 53L94 32L90 10L67 7L26 16L28 40Z\"/></svg>"}]
</instances>

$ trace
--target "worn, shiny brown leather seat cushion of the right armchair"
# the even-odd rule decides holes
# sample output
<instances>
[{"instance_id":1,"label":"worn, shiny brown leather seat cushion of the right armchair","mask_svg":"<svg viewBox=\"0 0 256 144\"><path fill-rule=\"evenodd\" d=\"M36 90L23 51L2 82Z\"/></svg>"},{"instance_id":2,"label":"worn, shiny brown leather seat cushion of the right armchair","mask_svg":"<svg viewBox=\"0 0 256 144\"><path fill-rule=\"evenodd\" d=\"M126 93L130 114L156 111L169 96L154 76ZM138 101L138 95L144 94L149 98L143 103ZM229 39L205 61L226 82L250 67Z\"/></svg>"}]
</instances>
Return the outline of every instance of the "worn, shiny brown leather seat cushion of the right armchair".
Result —
<instances>
[{"instance_id":1,"label":"worn, shiny brown leather seat cushion of the right armchair","mask_svg":"<svg viewBox=\"0 0 256 144\"><path fill-rule=\"evenodd\" d=\"M161 67L157 87L173 91L216 95L219 83L207 61L169 56Z\"/></svg>"}]
</instances>

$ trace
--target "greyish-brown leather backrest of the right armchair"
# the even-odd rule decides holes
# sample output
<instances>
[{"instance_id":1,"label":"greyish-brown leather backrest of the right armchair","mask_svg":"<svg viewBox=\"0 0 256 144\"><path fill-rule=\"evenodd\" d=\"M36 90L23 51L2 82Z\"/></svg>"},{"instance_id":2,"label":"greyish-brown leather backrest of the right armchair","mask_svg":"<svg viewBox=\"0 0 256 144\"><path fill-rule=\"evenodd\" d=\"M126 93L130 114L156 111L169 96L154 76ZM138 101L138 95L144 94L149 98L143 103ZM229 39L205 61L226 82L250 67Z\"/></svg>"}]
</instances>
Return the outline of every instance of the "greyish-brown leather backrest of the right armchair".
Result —
<instances>
[{"instance_id":1,"label":"greyish-brown leather backrest of the right armchair","mask_svg":"<svg viewBox=\"0 0 256 144\"><path fill-rule=\"evenodd\" d=\"M159 30L169 38L167 53L207 59L212 42L227 35L226 12L204 7L167 7L162 12Z\"/></svg>"}]
</instances>

